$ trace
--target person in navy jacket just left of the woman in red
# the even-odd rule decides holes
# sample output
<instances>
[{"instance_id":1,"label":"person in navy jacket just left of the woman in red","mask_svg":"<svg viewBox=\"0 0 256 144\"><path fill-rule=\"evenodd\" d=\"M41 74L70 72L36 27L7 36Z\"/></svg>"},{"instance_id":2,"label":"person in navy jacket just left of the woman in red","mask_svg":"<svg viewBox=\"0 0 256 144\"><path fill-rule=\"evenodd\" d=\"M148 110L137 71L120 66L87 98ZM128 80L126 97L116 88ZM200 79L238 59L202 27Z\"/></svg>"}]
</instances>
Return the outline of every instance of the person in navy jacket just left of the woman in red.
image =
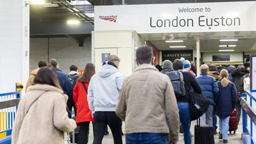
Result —
<instances>
[{"instance_id":1,"label":"person in navy jacket just left of the woman in red","mask_svg":"<svg viewBox=\"0 0 256 144\"><path fill-rule=\"evenodd\" d=\"M52 67L55 69L61 89L64 91L64 93L68 95L67 106L68 106L68 110L72 111L72 107L74 107L75 109L75 103L73 100L73 86L68 78L68 75L63 73L59 69L59 63L57 60L51 59L49 63L51 63Z\"/></svg>"}]
</instances>

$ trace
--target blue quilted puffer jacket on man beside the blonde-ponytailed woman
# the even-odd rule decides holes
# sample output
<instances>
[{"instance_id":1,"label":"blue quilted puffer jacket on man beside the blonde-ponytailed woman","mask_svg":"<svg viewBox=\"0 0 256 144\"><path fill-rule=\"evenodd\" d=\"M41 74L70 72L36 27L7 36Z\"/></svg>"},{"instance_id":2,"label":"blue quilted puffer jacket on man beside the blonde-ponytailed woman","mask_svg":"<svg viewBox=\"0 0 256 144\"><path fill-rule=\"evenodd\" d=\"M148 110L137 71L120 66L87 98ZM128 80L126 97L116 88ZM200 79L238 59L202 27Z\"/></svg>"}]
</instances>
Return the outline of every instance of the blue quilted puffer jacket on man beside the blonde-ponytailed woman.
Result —
<instances>
[{"instance_id":1,"label":"blue quilted puffer jacket on man beside the blonde-ponytailed woman","mask_svg":"<svg viewBox=\"0 0 256 144\"><path fill-rule=\"evenodd\" d=\"M219 88L215 78L202 73L196 78L196 81L200 85L203 95L211 101L211 105L215 105L219 96Z\"/></svg>"}]
</instances>

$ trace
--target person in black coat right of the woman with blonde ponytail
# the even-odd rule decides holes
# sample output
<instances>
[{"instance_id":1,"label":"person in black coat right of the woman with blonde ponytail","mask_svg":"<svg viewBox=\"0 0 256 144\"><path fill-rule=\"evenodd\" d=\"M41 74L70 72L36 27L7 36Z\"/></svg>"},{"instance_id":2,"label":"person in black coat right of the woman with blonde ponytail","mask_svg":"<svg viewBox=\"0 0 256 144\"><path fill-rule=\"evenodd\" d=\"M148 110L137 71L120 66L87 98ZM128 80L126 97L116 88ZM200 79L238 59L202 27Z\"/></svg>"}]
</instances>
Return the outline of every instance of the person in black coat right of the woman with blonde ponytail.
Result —
<instances>
[{"instance_id":1,"label":"person in black coat right of the woman with blonde ponytail","mask_svg":"<svg viewBox=\"0 0 256 144\"><path fill-rule=\"evenodd\" d=\"M241 97L242 93L244 93L244 78L248 77L249 73L250 73L249 70L245 69L243 65L238 66L237 69L231 73L232 82L236 85L238 98ZM237 123L239 124L241 109L242 109L239 99L236 102L236 109L237 109Z\"/></svg>"}]
</instances>

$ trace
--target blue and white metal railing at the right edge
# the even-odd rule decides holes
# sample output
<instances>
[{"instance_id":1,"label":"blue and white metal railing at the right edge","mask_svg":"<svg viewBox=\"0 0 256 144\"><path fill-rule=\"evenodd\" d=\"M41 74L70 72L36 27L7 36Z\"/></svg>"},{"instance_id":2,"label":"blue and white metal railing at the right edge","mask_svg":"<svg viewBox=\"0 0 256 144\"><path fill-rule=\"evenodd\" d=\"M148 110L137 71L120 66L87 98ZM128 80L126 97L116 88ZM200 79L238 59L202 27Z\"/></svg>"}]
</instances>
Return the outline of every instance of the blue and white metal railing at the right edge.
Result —
<instances>
[{"instance_id":1,"label":"blue and white metal railing at the right edge","mask_svg":"<svg viewBox=\"0 0 256 144\"><path fill-rule=\"evenodd\" d=\"M243 142L256 143L256 90L247 90L241 97L243 118Z\"/></svg>"}]
</instances>

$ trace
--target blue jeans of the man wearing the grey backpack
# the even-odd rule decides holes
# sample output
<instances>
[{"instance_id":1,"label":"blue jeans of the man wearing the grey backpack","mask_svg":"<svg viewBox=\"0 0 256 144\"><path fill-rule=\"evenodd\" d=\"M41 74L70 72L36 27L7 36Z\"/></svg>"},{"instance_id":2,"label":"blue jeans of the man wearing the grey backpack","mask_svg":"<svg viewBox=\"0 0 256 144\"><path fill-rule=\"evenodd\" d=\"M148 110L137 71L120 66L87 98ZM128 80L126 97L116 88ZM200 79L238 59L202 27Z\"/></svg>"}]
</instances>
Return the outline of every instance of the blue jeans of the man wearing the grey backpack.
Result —
<instances>
[{"instance_id":1,"label":"blue jeans of the man wearing the grey backpack","mask_svg":"<svg viewBox=\"0 0 256 144\"><path fill-rule=\"evenodd\" d=\"M182 124L184 142L185 144L191 144L190 134L190 111L188 102L178 102L180 122Z\"/></svg>"}]
</instances>

